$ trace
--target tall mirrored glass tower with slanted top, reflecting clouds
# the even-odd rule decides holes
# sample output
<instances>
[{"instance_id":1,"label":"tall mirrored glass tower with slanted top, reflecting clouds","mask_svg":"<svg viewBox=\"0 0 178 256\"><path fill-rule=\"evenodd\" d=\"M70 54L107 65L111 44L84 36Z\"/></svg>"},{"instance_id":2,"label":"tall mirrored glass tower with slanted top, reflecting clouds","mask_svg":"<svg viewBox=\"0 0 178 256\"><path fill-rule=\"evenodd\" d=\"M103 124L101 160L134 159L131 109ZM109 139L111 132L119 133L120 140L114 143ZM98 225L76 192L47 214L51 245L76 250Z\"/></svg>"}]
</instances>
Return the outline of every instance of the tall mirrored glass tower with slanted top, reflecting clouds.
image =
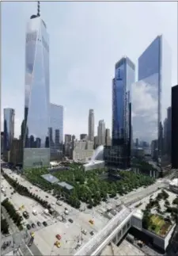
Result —
<instances>
[{"instance_id":1,"label":"tall mirrored glass tower with slanted top, reflecting clouds","mask_svg":"<svg viewBox=\"0 0 178 256\"><path fill-rule=\"evenodd\" d=\"M171 156L171 52L157 36L138 59L138 82L132 85L133 147L158 166Z\"/></svg>"}]
</instances>

